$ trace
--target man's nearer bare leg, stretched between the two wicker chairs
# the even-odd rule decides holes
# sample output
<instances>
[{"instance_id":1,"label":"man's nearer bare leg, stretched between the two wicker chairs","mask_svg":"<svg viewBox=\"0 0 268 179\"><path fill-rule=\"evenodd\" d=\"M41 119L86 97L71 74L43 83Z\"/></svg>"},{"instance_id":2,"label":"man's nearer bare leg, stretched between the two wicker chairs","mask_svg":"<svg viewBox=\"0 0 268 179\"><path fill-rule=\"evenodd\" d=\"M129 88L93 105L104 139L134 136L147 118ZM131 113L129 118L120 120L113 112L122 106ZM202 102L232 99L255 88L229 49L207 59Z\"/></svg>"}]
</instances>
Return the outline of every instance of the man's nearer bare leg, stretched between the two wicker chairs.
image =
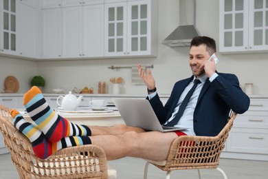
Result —
<instances>
[{"instance_id":1,"label":"man's nearer bare leg, stretched between the two wicker chairs","mask_svg":"<svg viewBox=\"0 0 268 179\"><path fill-rule=\"evenodd\" d=\"M126 156L149 160L166 160L172 141L177 138L174 132L161 133L129 131L120 135L91 136L93 145L104 149L108 160Z\"/></svg>"}]
</instances>

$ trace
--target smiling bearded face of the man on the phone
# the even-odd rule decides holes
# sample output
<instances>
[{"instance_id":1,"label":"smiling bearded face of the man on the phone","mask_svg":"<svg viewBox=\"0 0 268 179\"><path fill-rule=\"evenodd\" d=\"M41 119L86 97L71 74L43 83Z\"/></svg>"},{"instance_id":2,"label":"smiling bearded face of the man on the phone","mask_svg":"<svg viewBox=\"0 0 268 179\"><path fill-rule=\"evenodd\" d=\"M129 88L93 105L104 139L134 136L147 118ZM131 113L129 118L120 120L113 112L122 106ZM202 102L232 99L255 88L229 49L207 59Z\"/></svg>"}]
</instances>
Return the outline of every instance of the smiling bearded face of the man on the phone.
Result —
<instances>
[{"instance_id":1,"label":"smiling bearded face of the man on the phone","mask_svg":"<svg viewBox=\"0 0 268 179\"><path fill-rule=\"evenodd\" d=\"M192 46L189 52L189 64L194 76L205 74L203 63L210 58L206 45Z\"/></svg>"}]
</instances>

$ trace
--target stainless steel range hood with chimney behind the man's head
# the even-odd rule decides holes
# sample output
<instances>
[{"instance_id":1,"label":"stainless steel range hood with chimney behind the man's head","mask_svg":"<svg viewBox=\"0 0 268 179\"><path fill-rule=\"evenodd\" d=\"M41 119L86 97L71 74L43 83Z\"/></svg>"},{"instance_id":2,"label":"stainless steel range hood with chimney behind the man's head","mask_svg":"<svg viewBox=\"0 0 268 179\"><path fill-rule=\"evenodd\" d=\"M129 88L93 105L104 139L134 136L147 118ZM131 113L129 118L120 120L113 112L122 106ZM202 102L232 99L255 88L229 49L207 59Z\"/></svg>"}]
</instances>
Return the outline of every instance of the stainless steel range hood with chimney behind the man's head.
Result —
<instances>
[{"instance_id":1,"label":"stainless steel range hood with chimney behind the man's head","mask_svg":"<svg viewBox=\"0 0 268 179\"><path fill-rule=\"evenodd\" d=\"M199 32L195 28L196 0L179 0L179 27L162 41L169 47L186 47ZM190 12L190 13L188 13Z\"/></svg>"}]
</instances>

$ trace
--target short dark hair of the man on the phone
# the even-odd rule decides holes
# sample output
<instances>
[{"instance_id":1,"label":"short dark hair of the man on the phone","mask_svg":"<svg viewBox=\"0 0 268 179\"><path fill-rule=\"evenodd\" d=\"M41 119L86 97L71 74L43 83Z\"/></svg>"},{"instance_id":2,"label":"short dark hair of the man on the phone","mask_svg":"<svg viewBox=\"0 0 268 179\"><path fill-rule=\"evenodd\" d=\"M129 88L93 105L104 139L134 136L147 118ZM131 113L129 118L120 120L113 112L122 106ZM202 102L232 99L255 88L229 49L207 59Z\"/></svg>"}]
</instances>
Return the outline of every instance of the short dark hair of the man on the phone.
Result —
<instances>
[{"instance_id":1,"label":"short dark hair of the man on the phone","mask_svg":"<svg viewBox=\"0 0 268 179\"><path fill-rule=\"evenodd\" d=\"M194 38L192 38L190 48L192 48L192 46L199 46L202 44L207 46L207 51L210 54L214 54L216 52L216 42L208 36L194 36Z\"/></svg>"}]
</instances>

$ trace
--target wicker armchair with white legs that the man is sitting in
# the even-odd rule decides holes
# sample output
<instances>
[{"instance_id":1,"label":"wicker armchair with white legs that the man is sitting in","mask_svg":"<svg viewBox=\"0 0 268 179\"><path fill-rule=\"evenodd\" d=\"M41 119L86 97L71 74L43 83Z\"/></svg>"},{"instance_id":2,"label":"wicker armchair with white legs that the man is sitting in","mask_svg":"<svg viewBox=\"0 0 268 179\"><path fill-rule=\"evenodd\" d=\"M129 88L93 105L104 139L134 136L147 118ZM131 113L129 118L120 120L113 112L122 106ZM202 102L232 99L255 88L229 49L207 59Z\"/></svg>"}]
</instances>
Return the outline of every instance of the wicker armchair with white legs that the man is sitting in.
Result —
<instances>
[{"instance_id":1,"label":"wicker armchair with white legs that the man is sitting in","mask_svg":"<svg viewBox=\"0 0 268 179\"><path fill-rule=\"evenodd\" d=\"M198 169L200 179L200 169L216 169L223 178L227 179L225 172L219 168L219 158L236 114L232 113L230 116L228 123L217 136L180 136L176 138L170 147L167 160L161 162L147 160L144 179L147 178L150 163L167 171L166 179L170 178L171 171L180 169Z\"/></svg>"}]
</instances>

